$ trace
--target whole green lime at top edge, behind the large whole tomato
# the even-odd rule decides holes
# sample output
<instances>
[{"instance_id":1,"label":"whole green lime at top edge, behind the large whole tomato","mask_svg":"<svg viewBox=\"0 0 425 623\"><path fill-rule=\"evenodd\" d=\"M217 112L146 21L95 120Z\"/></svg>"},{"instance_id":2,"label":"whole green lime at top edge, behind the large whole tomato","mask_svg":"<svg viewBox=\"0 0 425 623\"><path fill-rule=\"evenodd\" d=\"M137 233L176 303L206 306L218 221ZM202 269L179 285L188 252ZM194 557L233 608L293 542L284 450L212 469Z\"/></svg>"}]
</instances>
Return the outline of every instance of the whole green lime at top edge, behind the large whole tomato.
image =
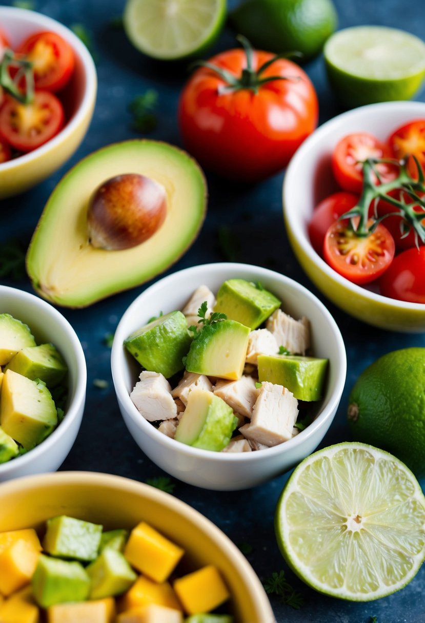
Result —
<instances>
[{"instance_id":1,"label":"whole green lime at top edge, behind the large whole tomato","mask_svg":"<svg viewBox=\"0 0 425 623\"><path fill-rule=\"evenodd\" d=\"M315 56L337 27L332 0L246 0L230 14L238 34L257 49Z\"/></svg>"}]
</instances>

